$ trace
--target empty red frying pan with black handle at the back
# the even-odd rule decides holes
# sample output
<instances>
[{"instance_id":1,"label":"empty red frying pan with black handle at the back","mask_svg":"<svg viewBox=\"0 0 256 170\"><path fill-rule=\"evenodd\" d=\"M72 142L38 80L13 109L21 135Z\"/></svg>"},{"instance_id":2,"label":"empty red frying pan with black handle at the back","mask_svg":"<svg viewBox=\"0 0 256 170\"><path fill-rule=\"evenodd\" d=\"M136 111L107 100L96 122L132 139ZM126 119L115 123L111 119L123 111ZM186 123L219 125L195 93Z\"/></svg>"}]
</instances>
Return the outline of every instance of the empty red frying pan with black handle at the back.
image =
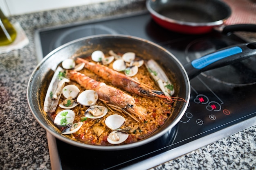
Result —
<instances>
[{"instance_id":1,"label":"empty red frying pan with black handle at the back","mask_svg":"<svg viewBox=\"0 0 256 170\"><path fill-rule=\"evenodd\" d=\"M254 24L224 26L231 9L220 0L147 0L146 7L157 24L179 33L256 31Z\"/></svg>"}]
</instances>

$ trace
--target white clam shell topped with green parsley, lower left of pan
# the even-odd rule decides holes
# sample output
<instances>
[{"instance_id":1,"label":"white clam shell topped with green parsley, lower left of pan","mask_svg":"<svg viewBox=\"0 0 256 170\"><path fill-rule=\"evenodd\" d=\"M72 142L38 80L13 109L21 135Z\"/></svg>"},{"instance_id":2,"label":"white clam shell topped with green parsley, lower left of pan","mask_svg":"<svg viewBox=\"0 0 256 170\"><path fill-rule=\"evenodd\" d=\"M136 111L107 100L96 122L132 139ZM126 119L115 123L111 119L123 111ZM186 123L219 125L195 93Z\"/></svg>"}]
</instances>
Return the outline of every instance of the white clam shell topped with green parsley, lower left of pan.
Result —
<instances>
[{"instance_id":1,"label":"white clam shell topped with green parsley, lower left of pan","mask_svg":"<svg viewBox=\"0 0 256 170\"><path fill-rule=\"evenodd\" d=\"M74 122L75 119L75 112L70 109L65 109L63 111L60 111L55 119L54 124L58 126L69 126Z\"/></svg>"}]
</instances>

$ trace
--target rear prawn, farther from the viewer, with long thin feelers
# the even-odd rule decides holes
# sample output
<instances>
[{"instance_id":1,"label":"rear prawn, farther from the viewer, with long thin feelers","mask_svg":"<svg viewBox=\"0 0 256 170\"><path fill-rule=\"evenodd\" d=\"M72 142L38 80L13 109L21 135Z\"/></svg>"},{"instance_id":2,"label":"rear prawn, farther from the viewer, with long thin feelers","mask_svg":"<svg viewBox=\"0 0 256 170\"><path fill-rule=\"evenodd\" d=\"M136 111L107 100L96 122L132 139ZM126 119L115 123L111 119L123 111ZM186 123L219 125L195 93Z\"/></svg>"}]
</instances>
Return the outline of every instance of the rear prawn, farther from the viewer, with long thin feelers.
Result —
<instances>
[{"instance_id":1,"label":"rear prawn, farther from the viewer, with long thin feelers","mask_svg":"<svg viewBox=\"0 0 256 170\"><path fill-rule=\"evenodd\" d=\"M106 67L105 65L92 63L79 57L76 58L76 61L85 63L84 67L86 69L94 72L94 74L97 74L98 76L101 76L106 81L112 83L112 85L124 89L132 94L137 94L139 96L148 98L163 98L168 100L168 102L170 103L173 102L173 100L185 101L182 98L165 96L164 92L154 90L151 87L139 83L138 81L136 81L133 78L130 78L129 76L126 76L125 74L121 74L115 70L112 70L111 68Z\"/></svg>"}]
</instances>

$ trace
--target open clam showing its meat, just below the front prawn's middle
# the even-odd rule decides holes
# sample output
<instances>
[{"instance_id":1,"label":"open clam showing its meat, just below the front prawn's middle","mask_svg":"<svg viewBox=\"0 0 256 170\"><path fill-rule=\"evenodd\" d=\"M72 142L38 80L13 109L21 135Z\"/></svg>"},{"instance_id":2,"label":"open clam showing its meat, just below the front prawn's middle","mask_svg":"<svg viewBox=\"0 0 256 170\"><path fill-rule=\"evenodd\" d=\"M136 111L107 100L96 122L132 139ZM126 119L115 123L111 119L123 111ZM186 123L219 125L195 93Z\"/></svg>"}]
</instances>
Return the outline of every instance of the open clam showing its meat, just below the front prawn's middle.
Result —
<instances>
[{"instance_id":1,"label":"open clam showing its meat, just below the front prawn's middle","mask_svg":"<svg viewBox=\"0 0 256 170\"><path fill-rule=\"evenodd\" d=\"M94 105L85 111L85 117L90 119L102 118L108 113L108 109L104 106Z\"/></svg>"}]
</instances>

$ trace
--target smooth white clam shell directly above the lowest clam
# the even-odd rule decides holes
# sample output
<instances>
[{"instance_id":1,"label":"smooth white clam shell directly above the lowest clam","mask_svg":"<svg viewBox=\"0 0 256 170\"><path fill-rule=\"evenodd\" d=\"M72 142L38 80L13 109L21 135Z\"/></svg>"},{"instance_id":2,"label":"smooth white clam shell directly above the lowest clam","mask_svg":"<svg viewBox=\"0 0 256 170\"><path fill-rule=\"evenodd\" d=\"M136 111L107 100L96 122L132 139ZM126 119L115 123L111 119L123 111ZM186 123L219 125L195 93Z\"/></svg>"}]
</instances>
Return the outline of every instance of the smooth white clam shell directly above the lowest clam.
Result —
<instances>
[{"instance_id":1,"label":"smooth white clam shell directly above the lowest clam","mask_svg":"<svg viewBox=\"0 0 256 170\"><path fill-rule=\"evenodd\" d=\"M120 115L110 115L108 118L105 120L106 126L108 126L109 129L112 131L119 129L124 123L125 123L125 118Z\"/></svg>"}]
</instances>

